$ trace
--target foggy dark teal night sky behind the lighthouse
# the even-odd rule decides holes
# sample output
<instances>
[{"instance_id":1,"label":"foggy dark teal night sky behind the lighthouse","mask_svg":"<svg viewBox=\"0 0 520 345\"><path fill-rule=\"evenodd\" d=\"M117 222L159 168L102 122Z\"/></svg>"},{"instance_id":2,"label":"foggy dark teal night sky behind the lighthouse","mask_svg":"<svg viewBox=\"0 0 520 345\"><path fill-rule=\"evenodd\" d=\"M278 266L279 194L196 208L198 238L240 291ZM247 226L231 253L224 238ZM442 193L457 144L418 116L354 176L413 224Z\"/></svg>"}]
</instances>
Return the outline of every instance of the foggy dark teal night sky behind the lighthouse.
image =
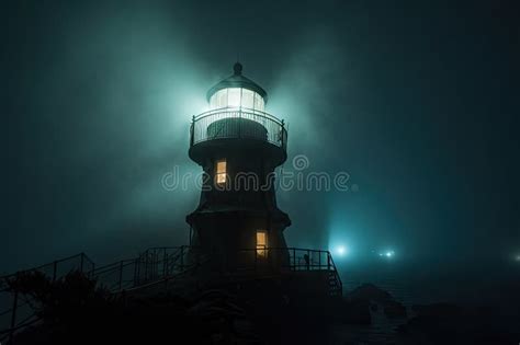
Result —
<instances>
[{"instance_id":1,"label":"foggy dark teal night sky behind the lighthouse","mask_svg":"<svg viewBox=\"0 0 520 345\"><path fill-rule=\"evenodd\" d=\"M515 1L2 1L0 273L188 241L191 116L231 72L290 159L359 192L280 192L290 245L439 264L520 252ZM352 260L353 260L352 258Z\"/></svg>"}]
</instances>

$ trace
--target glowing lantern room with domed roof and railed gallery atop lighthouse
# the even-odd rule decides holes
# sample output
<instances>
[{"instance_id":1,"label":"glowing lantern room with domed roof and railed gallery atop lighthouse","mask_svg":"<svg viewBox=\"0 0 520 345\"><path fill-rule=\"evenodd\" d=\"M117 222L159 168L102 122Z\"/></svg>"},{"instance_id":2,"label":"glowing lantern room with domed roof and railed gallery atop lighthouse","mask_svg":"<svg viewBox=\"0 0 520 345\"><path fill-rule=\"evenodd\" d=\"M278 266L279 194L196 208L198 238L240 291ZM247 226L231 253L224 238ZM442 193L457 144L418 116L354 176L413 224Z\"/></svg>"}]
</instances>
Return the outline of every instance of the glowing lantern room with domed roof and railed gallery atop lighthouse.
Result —
<instances>
[{"instance_id":1,"label":"glowing lantern room with domed roof and railed gallery atop lighthouse","mask_svg":"<svg viewBox=\"0 0 520 345\"><path fill-rule=\"evenodd\" d=\"M190 158L202 165L208 150L217 150L217 146L229 145L231 140L240 148L260 145L279 165L286 159L287 130L284 122L265 112L268 93L242 76L239 62L234 65L233 70L231 76L207 91L210 110L192 118ZM218 150L222 151L222 148Z\"/></svg>"}]
</instances>

